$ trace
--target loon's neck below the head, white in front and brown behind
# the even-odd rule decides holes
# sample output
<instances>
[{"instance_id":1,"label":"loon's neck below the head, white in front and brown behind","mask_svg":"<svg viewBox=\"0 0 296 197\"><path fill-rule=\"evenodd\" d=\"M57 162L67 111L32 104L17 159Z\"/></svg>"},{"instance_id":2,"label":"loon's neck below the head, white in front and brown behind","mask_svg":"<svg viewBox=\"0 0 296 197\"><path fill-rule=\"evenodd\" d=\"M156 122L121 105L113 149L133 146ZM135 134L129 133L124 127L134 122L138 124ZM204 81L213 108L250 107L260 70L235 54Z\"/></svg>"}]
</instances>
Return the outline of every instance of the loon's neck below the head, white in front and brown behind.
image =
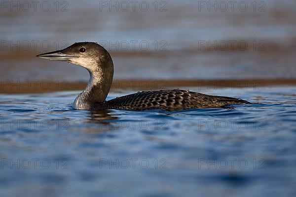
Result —
<instances>
[{"instance_id":1,"label":"loon's neck below the head, white in front and brown behind","mask_svg":"<svg viewBox=\"0 0 296 197\"><path fill-rule=\"evenodd\" d=\"M86 88L74 100L73 108L89 110L95 105L106 101L113 79L113 63L111 65L98 64L96 69L89 71L89 81Z\"/></svg>"}]
</instances>

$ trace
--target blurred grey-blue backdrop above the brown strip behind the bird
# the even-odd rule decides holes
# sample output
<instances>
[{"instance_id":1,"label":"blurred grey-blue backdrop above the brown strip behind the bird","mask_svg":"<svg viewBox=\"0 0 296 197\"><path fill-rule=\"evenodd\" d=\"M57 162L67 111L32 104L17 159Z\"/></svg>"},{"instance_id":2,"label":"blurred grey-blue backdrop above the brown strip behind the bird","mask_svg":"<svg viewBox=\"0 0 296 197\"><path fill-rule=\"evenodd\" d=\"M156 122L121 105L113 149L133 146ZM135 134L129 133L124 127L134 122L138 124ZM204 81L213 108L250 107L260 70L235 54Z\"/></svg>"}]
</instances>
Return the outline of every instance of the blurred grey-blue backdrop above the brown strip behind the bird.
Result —
<instances>
[{"instance_id":1,"label":"blurred grey-blue backdrop above the brown strip behind the bird","mask_svg":"<svg viewBox=\"0 0 296 197\"><path fill-rule=\"evenodd\" d=\"M86 82L83 68L35 55L94 41L110 51L114 80L295 84L295 6L291 0L1 1L0 78Z\"/></svg>"}]
</instances>

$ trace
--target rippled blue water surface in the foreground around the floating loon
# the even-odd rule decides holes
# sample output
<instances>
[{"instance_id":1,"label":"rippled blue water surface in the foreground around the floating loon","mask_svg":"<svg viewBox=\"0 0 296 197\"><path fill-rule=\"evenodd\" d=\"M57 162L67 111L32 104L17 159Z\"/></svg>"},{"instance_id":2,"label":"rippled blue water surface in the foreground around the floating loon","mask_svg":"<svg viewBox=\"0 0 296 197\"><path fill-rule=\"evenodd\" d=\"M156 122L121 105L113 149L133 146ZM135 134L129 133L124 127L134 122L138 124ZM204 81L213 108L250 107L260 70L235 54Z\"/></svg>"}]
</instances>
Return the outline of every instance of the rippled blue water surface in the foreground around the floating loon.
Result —
<instances>
[{"instance_id":1,"label":"rippled blue water surface in the foreground around the floating loon","mask_svg":"<svg viewBox=\"0 0 296 197\"><path fill-rule=\"evenodd\" d=\"M1 95L1 196L295 196L296 87L203 92L257 104L78 111L78 92Z\"/></svg>"}]
</instances>

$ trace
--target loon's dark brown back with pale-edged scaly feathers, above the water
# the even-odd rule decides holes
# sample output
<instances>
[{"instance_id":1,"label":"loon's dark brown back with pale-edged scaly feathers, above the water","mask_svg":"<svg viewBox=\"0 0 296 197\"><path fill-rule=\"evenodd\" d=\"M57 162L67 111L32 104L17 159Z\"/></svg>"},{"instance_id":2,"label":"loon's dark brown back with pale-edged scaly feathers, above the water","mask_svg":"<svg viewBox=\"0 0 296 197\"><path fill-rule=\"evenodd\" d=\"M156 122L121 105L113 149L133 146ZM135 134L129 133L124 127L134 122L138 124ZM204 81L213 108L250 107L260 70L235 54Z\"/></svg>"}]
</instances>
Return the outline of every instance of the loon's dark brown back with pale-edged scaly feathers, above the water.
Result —
<instances>
[{"instance_id":1,"label":"loon's dark brown back with pale-edged scaly feathers, above the water","mask_svg":"<svg viewBox=\"0 0 296 197\"><path fill-rule=\"evenodd\" d=\"M230 104L246 104L246 100L230 97L210 96L185 90L158 90L138 92L98 103L102 109L146 110L164 109L168 111L191 108L221 108Z\"/></svg>"}]
</instances>

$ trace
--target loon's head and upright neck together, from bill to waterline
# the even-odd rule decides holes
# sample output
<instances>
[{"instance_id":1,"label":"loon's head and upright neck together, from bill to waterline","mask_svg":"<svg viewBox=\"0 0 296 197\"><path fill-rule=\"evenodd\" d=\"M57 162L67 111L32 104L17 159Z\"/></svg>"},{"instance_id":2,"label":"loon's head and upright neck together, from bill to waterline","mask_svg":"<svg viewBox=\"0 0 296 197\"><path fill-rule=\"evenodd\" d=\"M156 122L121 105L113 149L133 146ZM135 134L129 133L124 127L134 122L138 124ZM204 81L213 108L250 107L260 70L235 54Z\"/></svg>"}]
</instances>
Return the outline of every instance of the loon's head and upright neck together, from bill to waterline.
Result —
<instances>
[{"instance_id":1,"label":"loon's head and upright neck together, from bill to waterline","mask_svg":"<svg viewBox=\"0 0 296 197\"><path fill-rule=\"evenodd\" d=\"M77 42L73 45L38 58L66 61L86 68L90 79L85 90L75 99L75 109L89 108L95 102L104 102L112 85L113 62L110 54L95 42Z\"/></svg>"}]
</instances>

